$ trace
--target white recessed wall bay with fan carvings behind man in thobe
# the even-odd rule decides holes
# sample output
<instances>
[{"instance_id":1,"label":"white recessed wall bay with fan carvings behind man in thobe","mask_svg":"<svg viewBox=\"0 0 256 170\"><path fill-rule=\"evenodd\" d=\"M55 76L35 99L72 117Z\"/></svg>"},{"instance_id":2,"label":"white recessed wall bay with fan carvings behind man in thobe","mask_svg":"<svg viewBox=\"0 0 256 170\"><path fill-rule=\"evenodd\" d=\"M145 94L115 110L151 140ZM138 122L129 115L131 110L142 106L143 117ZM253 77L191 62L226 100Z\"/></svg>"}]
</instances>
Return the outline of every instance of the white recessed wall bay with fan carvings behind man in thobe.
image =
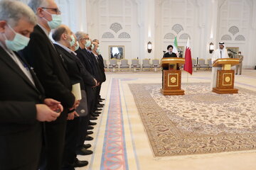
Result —
<instances>
[{"instance_id":1,"label":"white recessed wall bay with fan carvings behind man in thobe","mask_svg":"<svg viewBox=\"0 0 256 170\"><path fill-rule=\"evenodd\" d=\"M227 0L219 4L218 39L228 47L239 47L244 67L255 61L254 0ZM253 47L254 45L254 47Z\"/></svg>"}]
</instances>

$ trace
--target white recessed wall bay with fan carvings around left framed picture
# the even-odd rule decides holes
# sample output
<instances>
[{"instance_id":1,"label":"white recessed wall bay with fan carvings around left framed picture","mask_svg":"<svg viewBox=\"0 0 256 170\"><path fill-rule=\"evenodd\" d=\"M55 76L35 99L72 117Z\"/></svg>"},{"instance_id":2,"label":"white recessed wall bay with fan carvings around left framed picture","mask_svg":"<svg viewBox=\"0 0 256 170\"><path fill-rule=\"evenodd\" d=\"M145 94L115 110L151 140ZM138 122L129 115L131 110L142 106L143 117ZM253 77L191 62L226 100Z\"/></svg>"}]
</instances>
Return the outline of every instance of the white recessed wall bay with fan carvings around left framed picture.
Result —
<instances>
[{"instance_id":1,"label":"white recessed wall bay with fan carvings around left framed picture","mask_svg":"<svg viewBox=\"0 0 256 170\"><path fill-rule=\"evenodd\" d=\"M124 58L140 57L138 4L133 0L87 1L90 38L100 40L102 56L109 60L110 45L124 45Z\"/></svg>"}]
</instances>

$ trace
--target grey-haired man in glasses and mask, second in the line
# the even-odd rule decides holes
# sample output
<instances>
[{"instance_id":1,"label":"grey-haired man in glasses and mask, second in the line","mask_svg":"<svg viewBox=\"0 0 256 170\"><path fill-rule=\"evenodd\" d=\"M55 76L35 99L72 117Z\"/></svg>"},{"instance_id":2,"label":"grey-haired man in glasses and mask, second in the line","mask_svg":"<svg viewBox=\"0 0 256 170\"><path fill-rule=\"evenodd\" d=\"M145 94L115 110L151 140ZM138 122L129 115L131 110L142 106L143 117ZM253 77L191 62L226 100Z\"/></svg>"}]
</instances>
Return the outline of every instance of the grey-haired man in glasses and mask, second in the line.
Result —
<instances>
[{"instance_id":1,"label":"grey-haired man in glasses and mask, second in the line","mask_svg":"<svg viewBox=\"0 0 256 170\"><path fill-rule=\"evenodd\" d=\"M46 96L60 101L64 107L54 123L45 123L45 143L41 157L41 169L58 170L62 163L68 111L76 108L79 101L75 101L75 96L71 93L72 86L63 59L48 37L50 30L61 23L57 4L53 0L31 0L28 6L36 13L38 25L31 33L28 47L21 53L34 68Z\"/></svg>"}]
</instances>

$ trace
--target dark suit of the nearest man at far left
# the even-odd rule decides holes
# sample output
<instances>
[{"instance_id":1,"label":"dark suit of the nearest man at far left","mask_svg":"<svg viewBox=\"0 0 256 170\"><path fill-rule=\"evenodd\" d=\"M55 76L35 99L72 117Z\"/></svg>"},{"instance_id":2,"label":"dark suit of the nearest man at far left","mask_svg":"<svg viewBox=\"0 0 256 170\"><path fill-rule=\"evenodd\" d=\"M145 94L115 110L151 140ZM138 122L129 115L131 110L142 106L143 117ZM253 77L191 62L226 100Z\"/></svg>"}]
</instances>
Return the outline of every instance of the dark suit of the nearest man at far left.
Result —
<instances>
[{"instance_id":1,"label":"dark suit of the nearest man at far left","mask_svg":"<svg viewBox=\"0 0 256 170\"><path fill-rule=\"evenodd\" d=\"M22 61L22 60L21 60ZM28 67L29 68L29 67ZM43 87L31 71L34 86L0 46L0 169L32 170L41 153L41 123L36 103Z\"/></svg>"}]
</instances>

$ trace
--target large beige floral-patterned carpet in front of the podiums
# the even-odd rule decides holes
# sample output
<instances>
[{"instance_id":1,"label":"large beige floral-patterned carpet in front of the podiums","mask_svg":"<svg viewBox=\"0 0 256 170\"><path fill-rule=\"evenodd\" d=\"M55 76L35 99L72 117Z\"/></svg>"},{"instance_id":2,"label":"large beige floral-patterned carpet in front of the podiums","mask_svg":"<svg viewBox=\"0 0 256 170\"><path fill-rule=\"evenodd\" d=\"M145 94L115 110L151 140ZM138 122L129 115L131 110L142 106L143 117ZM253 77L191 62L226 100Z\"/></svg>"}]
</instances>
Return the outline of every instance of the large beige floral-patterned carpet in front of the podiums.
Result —
<instances>
[{"instance_id":1,"label":"large beige floral-patterned carpet in front of the podiums","mask_svg":"<svg viewBox=\"0 0 256 170\"><path fill-rule=\"evenodd\" d=\"M161 84L129 84L156 157L255 149L256 92L215 94L210 84L183 84L163 96Z\"/></svg>"}]
</instances>

